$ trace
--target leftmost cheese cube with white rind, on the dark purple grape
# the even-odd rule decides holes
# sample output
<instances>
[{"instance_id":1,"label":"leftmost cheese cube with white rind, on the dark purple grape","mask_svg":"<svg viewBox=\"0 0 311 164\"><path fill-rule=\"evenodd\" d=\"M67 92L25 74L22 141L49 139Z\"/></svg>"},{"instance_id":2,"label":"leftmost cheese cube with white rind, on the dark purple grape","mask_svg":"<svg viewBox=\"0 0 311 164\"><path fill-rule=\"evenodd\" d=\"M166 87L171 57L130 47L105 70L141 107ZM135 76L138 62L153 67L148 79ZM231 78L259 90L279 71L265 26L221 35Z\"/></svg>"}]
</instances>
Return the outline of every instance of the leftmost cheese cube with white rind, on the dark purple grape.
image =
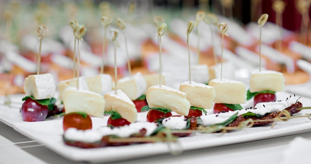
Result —
<instances>
[{"instance_id":1,"label":"leftmost cheese cube with white rind, on the dark purple grape","mask_svg":"<svg viewBox=\"0 0 311 164\"><path fill-rule=\"evenodd\" d=\"M51 73L29 75L24 80L26 95L32 95L36 100L52 98L55 90L56 86Z\"/></svg>"}]
</instances>

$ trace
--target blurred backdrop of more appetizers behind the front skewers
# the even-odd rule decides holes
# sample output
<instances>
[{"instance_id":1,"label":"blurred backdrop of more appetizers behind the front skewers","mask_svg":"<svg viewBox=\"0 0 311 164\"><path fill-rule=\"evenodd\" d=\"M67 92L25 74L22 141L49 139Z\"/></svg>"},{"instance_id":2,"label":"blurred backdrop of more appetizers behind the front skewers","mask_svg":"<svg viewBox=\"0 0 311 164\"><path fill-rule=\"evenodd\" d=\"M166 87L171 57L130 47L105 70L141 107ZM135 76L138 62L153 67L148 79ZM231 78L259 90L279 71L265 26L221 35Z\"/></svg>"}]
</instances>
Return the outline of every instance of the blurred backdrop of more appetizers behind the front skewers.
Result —
<instances>
[{"instance_id":1,"label":"blurred backdrop of more appetizers behind the front skewers","mask_svg":"<svg viewBox=\"0 0 311 164\"><path fill-rule=\"evenodd\" d=\"M196 22L190 35L192 64L206 64L209 75L219 76L222 35L218 24L228 24L224 37L225 77L248 82L259 64L261 14L269 15L262 27L263 66L284 73L286 84L309 81L308 70L298 60L311 60L310 0L1 0L0 1L0 95L23 93L23 79L37 72L38 28L49 34L42 40L41 73L50 72L55 81L73 78L74 35L70 22L85 25L80 49L82 76L104 73L113 76L113 43L109 30L119 29L118 74L127 76L127 50L133 72L157 73L159 23L167 24L162 39L163 71L167 84L177 87L187 80L186 28ZM200 15L201 14L201 15ZM107 26L102 15L111 17ZM124 30L117 18L126 23ZM104 33L107 31L106 38ZM125 43L125 36L127 43ZM198 79L199 80L199 79ZM203 82L203 81L202 81Z\"/></svg>"}]
</instances>

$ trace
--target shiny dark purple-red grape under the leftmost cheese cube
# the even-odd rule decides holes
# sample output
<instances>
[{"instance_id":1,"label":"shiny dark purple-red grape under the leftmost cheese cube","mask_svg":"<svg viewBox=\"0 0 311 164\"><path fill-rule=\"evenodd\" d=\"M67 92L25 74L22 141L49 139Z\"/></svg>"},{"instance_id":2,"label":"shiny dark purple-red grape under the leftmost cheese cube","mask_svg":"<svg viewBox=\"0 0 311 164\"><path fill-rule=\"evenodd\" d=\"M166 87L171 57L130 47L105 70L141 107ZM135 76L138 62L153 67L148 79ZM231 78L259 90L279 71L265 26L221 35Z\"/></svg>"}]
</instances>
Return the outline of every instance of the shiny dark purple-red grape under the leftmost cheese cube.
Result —
<instances>
[{"instance_id":1,"label":"shiny dark purple-red grape under the leftmost cheese cube","mask_svg":"<svg viewBox=\"0 0 311 164\"><path fill-rule=\"evenodd\" d=\"M24 121L43 121L48 115L48 106L28 98L21 106L21 116Z\"/></svg>"}]
</instances>

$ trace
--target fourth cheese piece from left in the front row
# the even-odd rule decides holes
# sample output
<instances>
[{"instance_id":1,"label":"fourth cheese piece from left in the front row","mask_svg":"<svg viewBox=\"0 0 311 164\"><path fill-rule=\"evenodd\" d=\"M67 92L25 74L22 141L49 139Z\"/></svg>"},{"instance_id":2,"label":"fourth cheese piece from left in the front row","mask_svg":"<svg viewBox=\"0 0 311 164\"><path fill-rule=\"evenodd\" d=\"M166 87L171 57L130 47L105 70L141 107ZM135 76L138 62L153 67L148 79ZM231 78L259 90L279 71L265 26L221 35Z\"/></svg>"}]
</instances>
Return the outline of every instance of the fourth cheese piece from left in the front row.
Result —
<instances>
[{"instance_id":1,"label":"fourth cheese piece from left in the front row","mask_svg":"<svg viewBox=\"0 0 311 164\"><path fill-rule=\"evenodd\" d=\"M216 97L215 88L191 81L180 84L179 90L187 94L187 100L191 106L203 109L212 109Z\"/></svg>"}]
</instances>

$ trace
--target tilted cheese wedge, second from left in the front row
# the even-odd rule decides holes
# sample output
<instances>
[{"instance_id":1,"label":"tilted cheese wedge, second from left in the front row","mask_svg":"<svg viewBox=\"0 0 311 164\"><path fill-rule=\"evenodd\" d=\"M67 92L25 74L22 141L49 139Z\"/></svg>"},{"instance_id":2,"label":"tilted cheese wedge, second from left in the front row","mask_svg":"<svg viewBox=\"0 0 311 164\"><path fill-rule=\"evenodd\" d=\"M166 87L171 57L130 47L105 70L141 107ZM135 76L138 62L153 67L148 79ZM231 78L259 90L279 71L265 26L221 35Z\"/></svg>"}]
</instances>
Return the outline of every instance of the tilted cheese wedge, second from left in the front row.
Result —
<instances>
[{"instance_id":1,"label":"tilted cheese wedge, second from left in the front row","mask_svg":"<svg viewBox=\"0 0 311 164\"><path fill-rule=\"evenodd\" d=\"M114 110L118 112L122 118L129 122L135 122L137 119L137 109L133 101L121 90L110 91L104 95L106 100L105 110Z\"/></svg>"}]
</instances>

